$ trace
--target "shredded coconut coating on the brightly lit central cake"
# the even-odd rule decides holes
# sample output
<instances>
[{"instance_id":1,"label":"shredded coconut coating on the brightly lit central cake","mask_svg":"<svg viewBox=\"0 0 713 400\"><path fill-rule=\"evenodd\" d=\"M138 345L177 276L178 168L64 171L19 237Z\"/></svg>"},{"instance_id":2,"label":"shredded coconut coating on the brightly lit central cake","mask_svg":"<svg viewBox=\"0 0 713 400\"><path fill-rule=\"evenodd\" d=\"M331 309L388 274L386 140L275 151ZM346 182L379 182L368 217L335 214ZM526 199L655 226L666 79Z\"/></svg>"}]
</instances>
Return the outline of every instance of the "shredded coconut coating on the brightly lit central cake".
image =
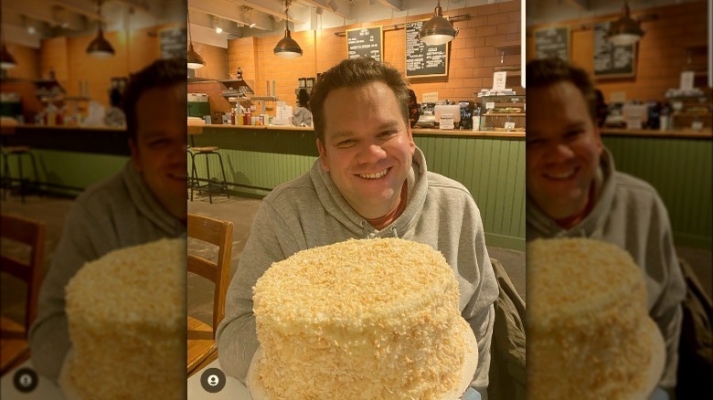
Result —
<instances>
[{"instance_id":1,"label":"shredded coconut coating on the brightly lit central cake","mask_svg":"<svg viewBox=\"0 0 713 400\"><path fill-rule=\"evenodd\" d=\"M428 245L387 238L304 250L253 290L271 398L440 398L458 384L467 323L452 268Z\"/></svg>"}]
</instances>

